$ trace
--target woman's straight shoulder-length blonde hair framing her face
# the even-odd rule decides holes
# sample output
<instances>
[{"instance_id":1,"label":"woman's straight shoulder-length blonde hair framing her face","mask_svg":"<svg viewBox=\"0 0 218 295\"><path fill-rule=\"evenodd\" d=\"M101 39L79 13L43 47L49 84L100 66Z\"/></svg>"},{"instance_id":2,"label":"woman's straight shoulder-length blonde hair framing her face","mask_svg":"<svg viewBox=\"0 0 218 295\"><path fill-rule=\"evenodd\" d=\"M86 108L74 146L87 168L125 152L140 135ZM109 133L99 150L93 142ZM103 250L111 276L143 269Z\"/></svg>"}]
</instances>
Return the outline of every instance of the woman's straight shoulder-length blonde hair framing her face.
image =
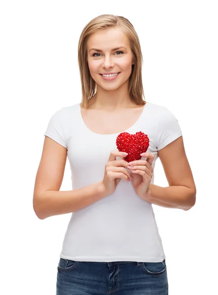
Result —
<instances>
[{"instance_id":1,"label":"woman's straight shoulder-length blonde hair framing her face","mask_svg":"<svg viewBox=\"0 0 218 295\"><path fill-rule=\"evenodd\" d=\"M142 52L138 35L132 24L123 16L113 14L102 14L93 18L82 30L78 44L78 63L82 85L81 107L88 108L89 99L96 93L96 83L93 80L89 65L87 42L88 38L98 31L110 28L122 28L128 37L130 48L133 54L134 64L129 76L128 94L133 103L143 105L146 101L142 85Z\"/></svg>"}]
</instances>

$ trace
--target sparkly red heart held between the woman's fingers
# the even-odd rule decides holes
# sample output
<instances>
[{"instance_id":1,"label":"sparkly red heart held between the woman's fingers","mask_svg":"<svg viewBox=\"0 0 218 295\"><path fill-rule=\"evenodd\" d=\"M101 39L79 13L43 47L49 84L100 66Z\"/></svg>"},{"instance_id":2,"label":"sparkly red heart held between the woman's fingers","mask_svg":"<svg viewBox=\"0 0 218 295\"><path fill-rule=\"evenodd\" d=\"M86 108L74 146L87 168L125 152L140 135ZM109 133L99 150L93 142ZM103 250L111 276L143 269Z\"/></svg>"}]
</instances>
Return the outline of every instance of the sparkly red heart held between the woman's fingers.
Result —
<instances>
[{"instance_id":1,"label":"sparkly red heart held between the woman's fingers","mask_svg":"<svg viewBox=\"0 0 218 295\"><path fill-rule=\"evenodd\" d=\"M118 135L116 145L119 151L125 151L128 155L125 157L126 162L140 160L141 153L146 152L149 147L149 138L147 134L139 131L135 134L122 132Z\"/></svg>"}]
</instances>

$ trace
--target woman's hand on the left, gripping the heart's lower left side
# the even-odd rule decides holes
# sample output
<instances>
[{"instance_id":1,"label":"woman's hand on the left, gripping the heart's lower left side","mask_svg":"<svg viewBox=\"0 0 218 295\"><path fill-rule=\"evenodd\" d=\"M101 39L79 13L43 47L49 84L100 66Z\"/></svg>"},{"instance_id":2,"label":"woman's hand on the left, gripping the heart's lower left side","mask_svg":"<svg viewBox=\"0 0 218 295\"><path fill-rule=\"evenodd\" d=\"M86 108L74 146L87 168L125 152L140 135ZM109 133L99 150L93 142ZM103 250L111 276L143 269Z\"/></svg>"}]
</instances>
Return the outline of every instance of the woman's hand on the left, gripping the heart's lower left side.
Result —
<instances>
[{"instance_id":1,"label":"woman's hand on the left, gripping the heart's lower left side","mask_svg":"<svg viewBox=\"0 0 218 295\"><path fill-rule=\"evenodd\" d=\"M106 196L112 194L118 183L121 181L121 178L130 181L132 179L131 174L125 169L129 166L128 162L124 159L116 160L116 157L125 158L127 153L117 150L112 150L108 159L108 162L105 165L104 178L102 180L102 187Z\"/></svg>"}]
</instances>

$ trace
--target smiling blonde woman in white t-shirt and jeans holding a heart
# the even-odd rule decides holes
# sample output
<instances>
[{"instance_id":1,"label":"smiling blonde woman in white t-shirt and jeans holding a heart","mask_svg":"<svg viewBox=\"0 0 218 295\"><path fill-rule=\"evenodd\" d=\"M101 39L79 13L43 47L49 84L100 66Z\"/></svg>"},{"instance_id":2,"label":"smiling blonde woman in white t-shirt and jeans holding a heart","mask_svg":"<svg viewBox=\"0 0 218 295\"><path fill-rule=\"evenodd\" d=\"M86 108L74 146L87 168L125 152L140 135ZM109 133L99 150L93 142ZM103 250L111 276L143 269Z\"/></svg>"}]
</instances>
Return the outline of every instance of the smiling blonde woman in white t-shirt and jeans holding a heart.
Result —
<instances>
[{"instance_id":1,"label":"smiling blonde woman in white t-shirt and jeans holding a heart","mask_svg":"<svg viewBox=\"0 0 218 295\"><path fill-rule=\"evenodd\" d=\"M104 14L91 20L80 35L78 63L82 101L50 119L33 194L40 219L72 214L56 294L168 295L152 204L193 206L182 130L168 109L143 99L140 43L126 18ZM147 143L142 159L127 158L137 151L131 145L135 134L140 150ZM123 143L128 150L121 150ZM154 185L158 154L168 188ZM60 191L66 157L72 190Z\"/></svg>"}]
</instances>

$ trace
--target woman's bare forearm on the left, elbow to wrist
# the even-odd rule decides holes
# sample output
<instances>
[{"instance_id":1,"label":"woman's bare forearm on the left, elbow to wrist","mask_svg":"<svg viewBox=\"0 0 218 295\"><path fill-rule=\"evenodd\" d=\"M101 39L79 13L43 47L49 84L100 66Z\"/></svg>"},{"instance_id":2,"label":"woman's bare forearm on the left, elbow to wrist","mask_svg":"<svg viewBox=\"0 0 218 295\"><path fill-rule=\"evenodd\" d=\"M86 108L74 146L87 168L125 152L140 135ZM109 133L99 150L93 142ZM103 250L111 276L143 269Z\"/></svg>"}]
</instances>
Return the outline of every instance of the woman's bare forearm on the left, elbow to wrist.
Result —
<instances>
[{"instance_id":1,"label":"woman's bare forearm on the left, elbow to wrist","mask_svg":"<svg viewBox=\"0 0 218 295\"><path fill-rule=\"evenodd\" d=\"M37 198L34 211L39 219L81 210L103 199L101 182L70 191L46 191Z\"/></svg>"}]
</instances>

